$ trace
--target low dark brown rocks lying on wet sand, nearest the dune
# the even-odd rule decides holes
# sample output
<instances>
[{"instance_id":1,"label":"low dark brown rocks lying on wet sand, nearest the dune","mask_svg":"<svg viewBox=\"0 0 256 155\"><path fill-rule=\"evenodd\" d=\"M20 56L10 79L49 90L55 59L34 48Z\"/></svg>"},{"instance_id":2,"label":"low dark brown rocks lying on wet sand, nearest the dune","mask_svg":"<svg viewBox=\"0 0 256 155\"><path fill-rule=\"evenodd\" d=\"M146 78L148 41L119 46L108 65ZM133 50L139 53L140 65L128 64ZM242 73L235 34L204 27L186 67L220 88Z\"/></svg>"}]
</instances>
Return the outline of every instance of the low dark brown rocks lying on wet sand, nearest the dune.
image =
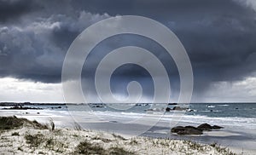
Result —
<instances>
[{"instance_id":1,"label":"low dark brown rocks lying on wet sand, nearest the dune","mask_svg":"<svg viewBox=\"0 0 256 155\"><path fill-rule=\"evenodd\" d=\"M171 129L172 133L177 133L177 135L202 135L203 131L211 131L212 129L222 129L223 127L218 125L211 126L208 123L202 123L198 127L194 126L177 126Z\"/></svg>"}]
</instances>

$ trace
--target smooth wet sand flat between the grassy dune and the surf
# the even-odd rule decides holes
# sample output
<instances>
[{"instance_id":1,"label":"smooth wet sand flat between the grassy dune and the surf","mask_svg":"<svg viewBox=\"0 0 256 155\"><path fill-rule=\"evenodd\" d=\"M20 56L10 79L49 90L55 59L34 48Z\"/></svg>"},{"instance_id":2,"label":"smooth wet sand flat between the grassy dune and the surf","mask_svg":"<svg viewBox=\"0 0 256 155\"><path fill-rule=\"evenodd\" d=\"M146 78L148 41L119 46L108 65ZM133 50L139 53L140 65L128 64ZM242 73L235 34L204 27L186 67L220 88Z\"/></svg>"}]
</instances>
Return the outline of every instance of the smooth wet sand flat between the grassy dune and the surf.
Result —
<instances>
[{"instance_id":1,"label":"smooth wet sand flat between the grassy dune and the surf","mask_svg":"<svg viewBox=\"0 0 256 155\"><path fill-rule=\"evenodd\" d=\"M45 107L45 106L42 106ZM51 106L50 106L51 107ZM229 107L229 106L223 106ZM136 134L142 129L148 129L147 122L140 124L122 123L127 120L137 118L139 113L135 112L96 112L96 117L85 115L84 112L73 112L77 121L83 126L83 129L90 129L95 131L104 131L109 133L116 133L127 137L129 134ZM0 116L16 116L18 118L27 118L29 120L36 119L39 123L49 123L49 118L52 118L55 127L58 129L73 129L75 126L74 120L68 111L65 109L44 109L44 110L1 110ZM254 146L256 145L256 133L254 118L210 118L201 116L184 115L183 118L176 125L198 126L201 123L210 123L212 125L223 126L224 129L204 132L203 135L175 135L170 132L170 120L174 116L166 114L160 119L159 123L155 124L153 128L149 128L147 132L140 136L151 138L168 138L174 140L196 141L201 144L210 145L214 142L220 146L235 148L237 153L250 152L247 154L256 154ZM152 118L150 118L152 119ZM113 120L113 121L112 121ZM128 138L127 137L127 138Z\"/></svg>"}]
</instances>

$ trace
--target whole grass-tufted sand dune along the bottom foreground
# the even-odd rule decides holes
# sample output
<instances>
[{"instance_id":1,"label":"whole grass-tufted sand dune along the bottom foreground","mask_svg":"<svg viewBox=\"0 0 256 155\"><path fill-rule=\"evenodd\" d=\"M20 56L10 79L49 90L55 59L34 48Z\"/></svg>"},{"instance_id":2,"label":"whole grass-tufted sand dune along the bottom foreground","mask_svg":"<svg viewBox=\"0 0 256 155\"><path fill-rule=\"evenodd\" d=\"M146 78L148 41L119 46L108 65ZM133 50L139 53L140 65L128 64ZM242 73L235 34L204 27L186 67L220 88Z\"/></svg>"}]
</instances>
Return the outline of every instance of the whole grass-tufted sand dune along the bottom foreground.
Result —
<instances>
[{"instance_id":1,"label":"whole grass-tufted sand dune along the bottom foreground","mask_svg":"<svg viewBox=\"0 0 256 155\"><path fill-rule=\"evenodd\" d=\"M11 119L24 123L14 129L1 130L0 151L6 154L234 154L229 148L214 143L205 145L143 136L127 139L104 131L79 127L52 130L36 121L9 117Z\"/></svg>"}]
</instances>

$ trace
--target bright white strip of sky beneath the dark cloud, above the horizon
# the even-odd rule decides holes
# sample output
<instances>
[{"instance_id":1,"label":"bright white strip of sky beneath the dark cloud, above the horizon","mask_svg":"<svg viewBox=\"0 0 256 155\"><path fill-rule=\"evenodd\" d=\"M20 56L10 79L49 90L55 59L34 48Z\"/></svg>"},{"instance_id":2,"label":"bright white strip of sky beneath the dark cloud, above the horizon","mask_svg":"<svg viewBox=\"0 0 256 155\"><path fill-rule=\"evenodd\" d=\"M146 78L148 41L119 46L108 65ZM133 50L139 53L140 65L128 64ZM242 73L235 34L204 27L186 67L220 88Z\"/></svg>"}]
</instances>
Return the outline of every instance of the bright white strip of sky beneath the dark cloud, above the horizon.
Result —
<instances>
[{"instance_id":1,"label":"bright white strip of sky beneath the dark cloud, above the horizon","mask_svg":"<svg viewBox=\"0 0 256 155\"><path fill-rule=\"evenodd\" d=\"M65 103L61 83L32 82L18 78L0 78L0 83L0 102ZM237 93L243 97L237 99ZM256 100L256 78L249 77L233 83L212 83L211 89L200 98L192 98L191 103L253 103L253 100ZM141 103L152 102L145 100Z\"/></svg>"}]
</instances>

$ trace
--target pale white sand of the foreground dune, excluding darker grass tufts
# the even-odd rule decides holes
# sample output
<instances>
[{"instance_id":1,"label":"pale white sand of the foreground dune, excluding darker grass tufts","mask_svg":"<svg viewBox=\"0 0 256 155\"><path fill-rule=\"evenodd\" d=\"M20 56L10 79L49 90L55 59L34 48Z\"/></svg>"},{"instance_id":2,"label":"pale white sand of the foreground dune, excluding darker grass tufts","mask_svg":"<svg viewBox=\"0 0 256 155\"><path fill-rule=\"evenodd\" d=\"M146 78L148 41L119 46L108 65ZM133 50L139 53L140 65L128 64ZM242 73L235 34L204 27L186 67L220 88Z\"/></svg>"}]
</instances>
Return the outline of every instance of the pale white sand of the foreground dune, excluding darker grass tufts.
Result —
<instances>
[{"instance_id":1,"label":"pale white sand of the foreground dune, excluding darker grass tufts","mask_svg":"<svg viewBox=\"0 0 256 155\"><path fill-rule=\"evenodd\" d=\"M19 135L12 135L13 133ZM38 146L31 146L26 142L26 135L40 134L44 138ZM136 154L225 154L219 152L217 147L202 145L190 141L177 141L166 139L153 139L135 137L124 140L123 138L99 131L75 129L33 129L24 126L21 129L12 129L1 133L0 154L72 154L81 141L98 144L104 149L119 146L126 151ZM48 145L47 142L51 141Z\"/></svg>"}]
</instances>

